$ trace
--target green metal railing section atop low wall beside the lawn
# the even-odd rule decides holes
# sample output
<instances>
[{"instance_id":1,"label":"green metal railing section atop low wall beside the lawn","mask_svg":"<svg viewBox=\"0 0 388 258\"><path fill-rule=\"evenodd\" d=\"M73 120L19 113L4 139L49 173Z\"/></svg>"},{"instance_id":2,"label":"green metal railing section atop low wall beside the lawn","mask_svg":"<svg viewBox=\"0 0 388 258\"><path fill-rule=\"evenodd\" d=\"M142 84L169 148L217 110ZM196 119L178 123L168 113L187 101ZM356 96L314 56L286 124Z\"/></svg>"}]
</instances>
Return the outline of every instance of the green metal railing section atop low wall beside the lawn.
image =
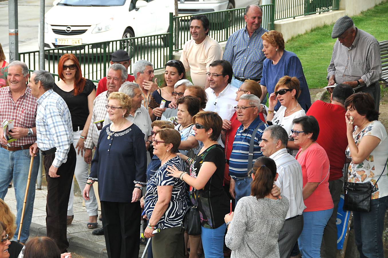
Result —
<instances>
[{"instance_id":1,"label":"green metal railing section atop low wall beside the lawn","mask_svg":"<svg viewBox=\"0 0 388 258\"><path fill-rule=\"evenodd\" d=\"M275 21L338 10L340 6L340 0L273 0L273 3Z\"/></svg>"}]
</instances>

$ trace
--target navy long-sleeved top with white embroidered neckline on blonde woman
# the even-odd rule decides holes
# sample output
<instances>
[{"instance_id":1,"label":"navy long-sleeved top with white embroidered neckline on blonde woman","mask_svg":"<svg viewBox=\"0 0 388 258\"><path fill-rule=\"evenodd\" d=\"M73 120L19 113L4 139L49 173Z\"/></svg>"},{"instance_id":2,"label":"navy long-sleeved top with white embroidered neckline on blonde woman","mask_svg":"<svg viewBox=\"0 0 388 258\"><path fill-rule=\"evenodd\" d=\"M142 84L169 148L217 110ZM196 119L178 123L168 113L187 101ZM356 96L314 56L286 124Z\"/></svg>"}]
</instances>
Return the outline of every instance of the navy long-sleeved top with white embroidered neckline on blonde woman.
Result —
<instances>
[{"instance_id":1,"label":"navy long-sleeved top with white embroidered neckline on blonde woman","mask_svg":"<svg viewBox=\"0 0 388 258\"><path fill-rule=\"evenodd\" d=\"M146 184L144 135L132 124L107 139L109 126L100 132L88 179L99 181L100 200L131 202L135 183Z\"/></svg>"}]
</instances>

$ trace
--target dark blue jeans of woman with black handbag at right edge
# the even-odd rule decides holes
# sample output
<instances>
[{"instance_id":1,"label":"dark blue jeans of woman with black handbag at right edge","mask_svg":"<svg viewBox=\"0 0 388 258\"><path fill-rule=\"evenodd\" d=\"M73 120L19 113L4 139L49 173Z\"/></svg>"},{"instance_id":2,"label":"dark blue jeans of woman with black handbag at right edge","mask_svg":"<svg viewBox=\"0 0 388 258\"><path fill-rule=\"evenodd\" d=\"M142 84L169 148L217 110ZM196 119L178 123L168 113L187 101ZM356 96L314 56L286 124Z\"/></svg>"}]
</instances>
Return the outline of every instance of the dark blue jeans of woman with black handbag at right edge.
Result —
<instances>
[{"instance_id":1,"label":"dark blue jeans of woman with black handbag at right edge","mask_svg":"<svg viewBox=\"0 0 388 258\"><path fill-rule=\"evenodd\" d=\"M360 258L383 258L384 215L388 196L371 200L370 212L353 211L354 235Z\"/></svg>"}]
</instances>

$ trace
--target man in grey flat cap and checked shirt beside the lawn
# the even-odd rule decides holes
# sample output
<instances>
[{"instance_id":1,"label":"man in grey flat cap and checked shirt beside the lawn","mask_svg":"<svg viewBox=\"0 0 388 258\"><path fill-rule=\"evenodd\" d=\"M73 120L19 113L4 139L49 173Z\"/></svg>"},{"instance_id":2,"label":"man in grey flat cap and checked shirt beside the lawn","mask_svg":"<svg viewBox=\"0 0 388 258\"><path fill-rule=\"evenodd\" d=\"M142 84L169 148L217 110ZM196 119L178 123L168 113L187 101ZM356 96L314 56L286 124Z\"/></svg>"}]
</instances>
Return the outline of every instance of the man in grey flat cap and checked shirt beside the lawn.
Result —
<instances>
[{"instance_id":1,"label":"man in grey flat cap and checked shirt beside the lawn","mask_svg":"<svg viewBox=\"0 0 388 258\"><path fill-rule=\"evenodd\" d=\"M327 85L344 83L352 86L355 92L371 94L378 111L381 57L376 38L355 27L348 16L336 21L331 37L338 39L327 68Z\"/></svg>"}]
</instances>

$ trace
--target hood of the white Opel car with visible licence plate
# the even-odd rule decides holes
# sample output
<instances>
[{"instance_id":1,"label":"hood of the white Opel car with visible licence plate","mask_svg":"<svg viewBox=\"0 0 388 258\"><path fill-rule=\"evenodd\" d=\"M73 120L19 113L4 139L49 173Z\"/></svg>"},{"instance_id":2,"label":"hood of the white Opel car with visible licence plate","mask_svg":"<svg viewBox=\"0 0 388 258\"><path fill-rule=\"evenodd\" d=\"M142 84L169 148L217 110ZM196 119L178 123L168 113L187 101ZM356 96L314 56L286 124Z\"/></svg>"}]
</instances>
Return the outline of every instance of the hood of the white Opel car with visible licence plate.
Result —
<instances>
[{"instance_id":1,"label":"hood of the white Opel car with visible licence plate","mask_svg":"<svg viewBox=\"0 0 388 258\"><path fill-rule=\"evenodd\" d=\"M50 25L95 25L122 12L122 6L53 6L45 15Z\"/></svg>"}]
</instances>

